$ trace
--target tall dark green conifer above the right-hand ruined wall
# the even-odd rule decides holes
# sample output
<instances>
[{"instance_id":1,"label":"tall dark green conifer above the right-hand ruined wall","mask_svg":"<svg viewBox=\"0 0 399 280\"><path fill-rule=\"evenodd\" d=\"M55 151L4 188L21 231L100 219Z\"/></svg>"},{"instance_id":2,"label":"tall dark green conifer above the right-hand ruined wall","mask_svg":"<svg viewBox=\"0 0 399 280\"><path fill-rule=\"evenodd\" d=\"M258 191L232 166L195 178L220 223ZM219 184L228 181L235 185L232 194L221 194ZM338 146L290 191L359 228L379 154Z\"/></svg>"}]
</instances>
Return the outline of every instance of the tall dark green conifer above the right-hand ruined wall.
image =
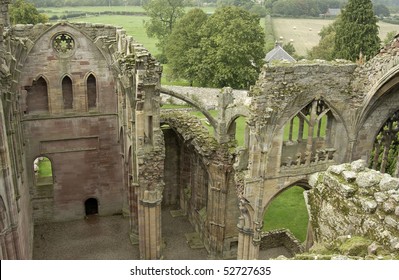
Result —
<instances>
[{"instance_id":1,"label":"tall dark green conifer above the right-hand ruined wall","mask_svg":"<svg viewBox=\"0 0 399 280\"><path fill-rule=\"evenodd\" d=\"M349 0L336 28L334 56L355 61L373 57L380 48L377 18L371 0Z\"/></svg>"}]
</instances>

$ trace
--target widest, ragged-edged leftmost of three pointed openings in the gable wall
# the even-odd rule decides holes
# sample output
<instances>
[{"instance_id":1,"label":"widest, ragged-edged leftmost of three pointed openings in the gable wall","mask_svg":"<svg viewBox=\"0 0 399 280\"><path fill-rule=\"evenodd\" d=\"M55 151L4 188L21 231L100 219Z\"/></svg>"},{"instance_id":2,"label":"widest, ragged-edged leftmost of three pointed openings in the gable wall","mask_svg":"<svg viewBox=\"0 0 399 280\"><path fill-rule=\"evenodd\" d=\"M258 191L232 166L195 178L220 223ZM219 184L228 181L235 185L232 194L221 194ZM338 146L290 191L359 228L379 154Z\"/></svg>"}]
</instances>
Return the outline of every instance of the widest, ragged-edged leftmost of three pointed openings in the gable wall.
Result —
<instances>
[{"instance_id":1,"label":"widest, ragged-edged leftmost of three pointed openings in the gable wall","mask_svg":"<svg viewBox=\"0 0 399 280\"><path fill-rule=\"evenodd\" d=\"M49 111L48 85L43 77L33 80L32 85L25 87L25 89L27 92L26 114Z\"/></svg>"}]
</instances>

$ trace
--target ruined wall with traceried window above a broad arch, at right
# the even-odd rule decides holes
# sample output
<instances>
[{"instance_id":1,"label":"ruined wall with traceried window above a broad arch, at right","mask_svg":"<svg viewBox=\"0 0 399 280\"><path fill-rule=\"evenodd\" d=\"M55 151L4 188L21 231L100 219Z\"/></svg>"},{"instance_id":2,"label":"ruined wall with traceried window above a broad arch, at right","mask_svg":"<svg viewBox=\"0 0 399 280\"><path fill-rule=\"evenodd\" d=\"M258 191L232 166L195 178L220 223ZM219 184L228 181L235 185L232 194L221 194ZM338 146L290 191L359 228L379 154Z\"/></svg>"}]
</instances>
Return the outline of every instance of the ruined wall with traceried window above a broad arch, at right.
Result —
<instances>
[{"instance_id":1,"label":"ruined wall with traceried window above a broad arch, at right","mask_svg":"<svg viewBox=\"0 0 399 280\"><path fill-rule=\"evenodd\" d=\"M399 109L398 50L396 38L361 66L347 61L304 61L263 67L250 91L239 259L257 258L264 212L284 189L311 188L309 175L330 165L360 158L369 162L376 135ZM323 117L327 119L325 135L318 133ZM301 133L292 137L295 119ZM307 135L302 134L304 126Z\"/></svg>"}]
</instances>

